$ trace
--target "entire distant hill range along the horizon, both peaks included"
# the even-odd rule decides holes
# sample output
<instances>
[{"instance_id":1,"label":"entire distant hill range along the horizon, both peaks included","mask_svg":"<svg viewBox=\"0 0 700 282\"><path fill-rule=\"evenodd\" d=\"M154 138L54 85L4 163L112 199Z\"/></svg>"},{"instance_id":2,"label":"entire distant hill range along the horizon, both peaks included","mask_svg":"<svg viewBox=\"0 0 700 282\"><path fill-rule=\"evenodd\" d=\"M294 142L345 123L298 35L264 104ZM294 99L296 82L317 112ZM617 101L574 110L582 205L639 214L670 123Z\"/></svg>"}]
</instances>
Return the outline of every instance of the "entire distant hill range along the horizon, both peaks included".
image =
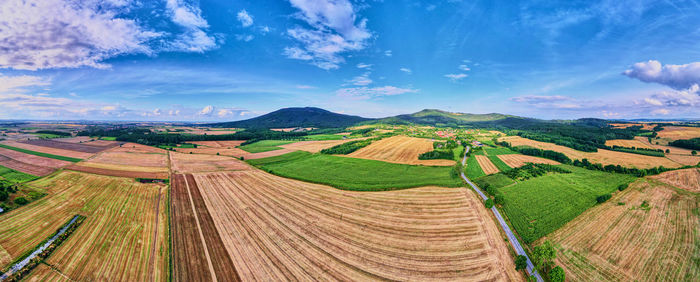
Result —
<instances>
[{"instance_id":1,"label":"entire distant hill range along the horizon, both peaks included","mask_svg":"<svg viewBox=\"0 0 700 282\"><path fill-rule=\"evenodd\" d=\"M314 107L284 108L259 117L210 124L214 127L237 128L291 128L317 127L337 128L358 124L421 124L433 126L478 126L523 128L542 126L544 124L577 124L585 126L605 126L608 121L602 119L579 120L540 120L533 118L490 114L452 113L435 109L426 109L413 114L404 114L386 118L363 118L359 116L333 113Z\"/></svg>"}]
</instances>

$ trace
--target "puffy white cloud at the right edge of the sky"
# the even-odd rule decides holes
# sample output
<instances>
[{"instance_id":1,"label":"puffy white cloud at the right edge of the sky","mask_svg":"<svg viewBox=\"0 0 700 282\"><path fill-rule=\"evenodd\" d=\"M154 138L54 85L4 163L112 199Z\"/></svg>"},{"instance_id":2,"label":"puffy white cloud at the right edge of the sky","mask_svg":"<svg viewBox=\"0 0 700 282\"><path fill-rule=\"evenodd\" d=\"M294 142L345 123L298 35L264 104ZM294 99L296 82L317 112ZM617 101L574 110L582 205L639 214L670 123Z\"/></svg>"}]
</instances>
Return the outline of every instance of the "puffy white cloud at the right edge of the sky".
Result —
<instances>
[{"instance_id":1,"label":"puffy white cloud at the right edge of the sky","mask_svg":"<svg viewBox=\"0 0 700 282\"><path fill-rule=\"evenodd\" d=\"M700 62L685 65L661 65L659 61L649 60L632 65L632 68L623 74L644 82L658 83L682 90L700 84Z\"/></svg>"}]
</instances>

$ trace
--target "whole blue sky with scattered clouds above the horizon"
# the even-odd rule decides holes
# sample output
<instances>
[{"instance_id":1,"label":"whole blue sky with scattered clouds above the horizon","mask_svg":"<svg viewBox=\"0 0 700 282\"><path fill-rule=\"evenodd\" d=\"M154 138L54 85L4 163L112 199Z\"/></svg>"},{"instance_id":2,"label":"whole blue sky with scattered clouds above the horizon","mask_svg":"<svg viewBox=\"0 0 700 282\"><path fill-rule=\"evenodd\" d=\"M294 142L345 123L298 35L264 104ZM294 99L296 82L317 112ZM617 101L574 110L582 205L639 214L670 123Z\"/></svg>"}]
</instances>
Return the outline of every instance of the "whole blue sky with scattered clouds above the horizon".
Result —
<instances>
[{"instance_id":1,"label":"whole blue sky with scattered clouds above the horizon","mask_svg":"<svg viewBox=\"0 0 700 282\"><path fill-rule=\"evenodd\" d=\"M699 1L0 1L0 119L700 118L699 84Z\"/></svg>"}]
</instances>

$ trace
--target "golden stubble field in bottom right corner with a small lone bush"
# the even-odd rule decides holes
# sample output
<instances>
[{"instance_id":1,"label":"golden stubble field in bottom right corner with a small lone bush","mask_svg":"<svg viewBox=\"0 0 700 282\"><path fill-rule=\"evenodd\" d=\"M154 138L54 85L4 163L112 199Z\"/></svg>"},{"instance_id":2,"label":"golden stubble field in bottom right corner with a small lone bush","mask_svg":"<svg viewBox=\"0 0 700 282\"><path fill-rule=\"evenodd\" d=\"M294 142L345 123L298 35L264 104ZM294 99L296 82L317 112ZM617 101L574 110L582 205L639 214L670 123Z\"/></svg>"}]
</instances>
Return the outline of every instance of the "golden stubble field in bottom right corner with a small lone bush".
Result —
<instances>
[{"instance_id":1,"label":"golden stubble field in bottom right corner with a small lone bush","mask_svg":"<svg viewBox=\"0 0 700 282\"><path fill-rule=\"evenodd\" d=\"M571 281L698 281L699 200L640 179L548 236L557 264Z\"/></svg>"}]
</instances>

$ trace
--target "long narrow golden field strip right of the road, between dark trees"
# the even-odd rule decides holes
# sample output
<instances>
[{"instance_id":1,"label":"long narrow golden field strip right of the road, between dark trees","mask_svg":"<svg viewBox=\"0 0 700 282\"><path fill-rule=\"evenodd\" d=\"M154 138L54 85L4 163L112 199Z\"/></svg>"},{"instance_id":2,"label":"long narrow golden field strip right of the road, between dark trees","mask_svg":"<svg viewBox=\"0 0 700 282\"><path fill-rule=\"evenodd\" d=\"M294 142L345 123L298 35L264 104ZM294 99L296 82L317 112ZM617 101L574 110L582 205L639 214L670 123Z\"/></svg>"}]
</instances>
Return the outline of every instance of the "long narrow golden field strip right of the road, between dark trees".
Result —
<instances>
[{"instance_id":1,"label":"long narrow golden field strip right of the road, between dark trees","mask_svg":"<svg viewBox=\"0 0 700 282\"><path fill-rule=\"evenodd\" d=\"M556 145L553 143L540 142L535 140L530 140L527 138L522 138L520 136L507 136L501 137L499 141L506 141L512 146L530 146L543 150L552 150L564 153L572 160L574 159L588 159L593 163L601 163L603 165L613 164L621 165L625 167L637 167L637 168L651 168L657 166L664 166L669 168L681 167L682 165L674 162L667 158L645 156L640 154L616 152L610 150L598 149L598 152L589 153L581 152L569 147L564 147Z\"/></svg>"}]
</instances>

